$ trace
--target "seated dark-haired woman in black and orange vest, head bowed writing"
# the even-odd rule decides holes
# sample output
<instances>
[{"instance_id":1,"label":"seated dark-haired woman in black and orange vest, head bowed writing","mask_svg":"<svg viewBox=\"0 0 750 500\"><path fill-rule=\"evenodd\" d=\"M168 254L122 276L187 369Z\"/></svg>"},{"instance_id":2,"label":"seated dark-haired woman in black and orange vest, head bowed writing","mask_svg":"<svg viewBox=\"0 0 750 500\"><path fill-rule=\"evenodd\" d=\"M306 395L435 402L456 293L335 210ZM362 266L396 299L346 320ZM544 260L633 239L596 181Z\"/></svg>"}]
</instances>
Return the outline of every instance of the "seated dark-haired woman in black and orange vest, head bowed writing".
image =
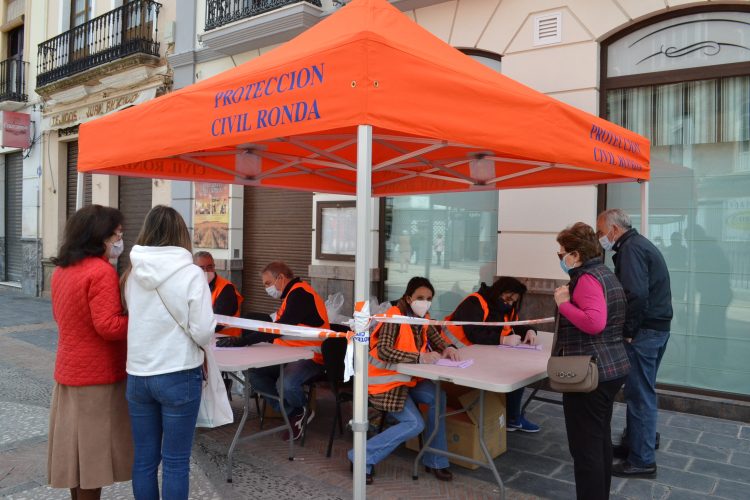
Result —
<instances>
[{"instance_id":1,"label":"seated dark-haired woman in black and orange vest, head bowed writing","mask_svg":"<svg viewBox=\"0 0 750 500\"><path fill-rule=\"evenodd\" d=\"M482 283L479 291L466 297L445 319L449 321L517 321L525 293L526 285L516 278L503 276L498 278L492 286ZM443 327L443 336L447 342L459 348L472 344L515 346L519 343L534 345L536 342L536 332L523 326L447 326ZM524 388L521 387L506 395L507 430L539 432L539 426L527 420L521 412L523 391Z\"/></svg>"}]
</instances>

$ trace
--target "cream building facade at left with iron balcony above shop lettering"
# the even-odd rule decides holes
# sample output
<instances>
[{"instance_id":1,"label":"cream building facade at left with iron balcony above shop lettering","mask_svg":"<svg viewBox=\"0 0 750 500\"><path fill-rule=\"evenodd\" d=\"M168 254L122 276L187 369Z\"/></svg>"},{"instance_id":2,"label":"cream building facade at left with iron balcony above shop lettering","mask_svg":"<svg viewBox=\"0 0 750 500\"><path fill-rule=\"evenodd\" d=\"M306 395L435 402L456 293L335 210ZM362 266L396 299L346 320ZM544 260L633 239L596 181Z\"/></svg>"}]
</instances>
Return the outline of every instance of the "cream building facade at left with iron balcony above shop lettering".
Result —
<instances>
[{"instance_id":1,"label":"cream building facade at left with iron balcony above shop lettering","mask_svg":"<svg viewBox=\"0 0 750 500\"><path fill-rule=\"evenodd\" d=\"M41 290L49 291L65 222L83 204L118 207L126 251L152 205L171 202L168 182L109 175L78 175L81 123L167 92L173 50L174 1L61 0L35 2L43 16L36 54L36 93L42 103ZM127 141L127 137L122 137ZM137 147L137 145L134 145ZM120 266L127 256L120 259Z\"/></svg>"}]
</instances>

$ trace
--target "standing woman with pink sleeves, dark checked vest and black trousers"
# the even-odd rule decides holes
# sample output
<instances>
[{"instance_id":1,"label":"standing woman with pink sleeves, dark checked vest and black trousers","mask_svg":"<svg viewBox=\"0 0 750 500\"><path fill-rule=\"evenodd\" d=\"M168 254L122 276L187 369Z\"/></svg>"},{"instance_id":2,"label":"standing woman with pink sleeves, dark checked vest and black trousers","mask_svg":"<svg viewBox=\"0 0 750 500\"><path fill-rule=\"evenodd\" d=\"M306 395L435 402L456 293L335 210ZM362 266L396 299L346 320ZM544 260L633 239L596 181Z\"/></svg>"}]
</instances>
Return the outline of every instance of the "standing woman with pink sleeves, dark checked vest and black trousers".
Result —
<instances>
[{"instance_id":1,"label":"standing woman with pink sleeves, dark checked vest and black trousers","mask_svg":"<svg viewBox=\"0 0 750 500\"><path fill-rule=\"evenodd\" d=\"M576 495L581 500L607 499L612 482L612 408L630 369L622 337L627 302L622 285L602 263L591 226L577 222L560 231L557 242L560 267L570 282L555 290L560 321L553 354L592 355L599 370L594 391L563 394Z\"/></svg>"}]
</instances>

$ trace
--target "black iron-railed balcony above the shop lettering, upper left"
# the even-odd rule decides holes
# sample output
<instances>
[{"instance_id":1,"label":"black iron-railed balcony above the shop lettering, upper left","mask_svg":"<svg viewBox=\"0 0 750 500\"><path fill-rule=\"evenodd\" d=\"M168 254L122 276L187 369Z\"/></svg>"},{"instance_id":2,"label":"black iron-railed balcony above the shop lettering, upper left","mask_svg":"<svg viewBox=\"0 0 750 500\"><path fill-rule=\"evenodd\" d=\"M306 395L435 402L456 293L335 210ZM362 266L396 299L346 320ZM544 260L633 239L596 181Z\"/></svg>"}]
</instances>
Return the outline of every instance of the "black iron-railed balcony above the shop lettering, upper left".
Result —
<instances>
[{"instance_id":1,"label":"black iron-railed balcony above the shop lettering, upper left","mask_svg":"<svg viewBox=\"0 0 750 500\"><path fill-rule=\"evenodd\" d=\"M37 89L131 55L158 58L160 8L153 0L128 2L40 43Z\"/></svg>"}]
</instances>

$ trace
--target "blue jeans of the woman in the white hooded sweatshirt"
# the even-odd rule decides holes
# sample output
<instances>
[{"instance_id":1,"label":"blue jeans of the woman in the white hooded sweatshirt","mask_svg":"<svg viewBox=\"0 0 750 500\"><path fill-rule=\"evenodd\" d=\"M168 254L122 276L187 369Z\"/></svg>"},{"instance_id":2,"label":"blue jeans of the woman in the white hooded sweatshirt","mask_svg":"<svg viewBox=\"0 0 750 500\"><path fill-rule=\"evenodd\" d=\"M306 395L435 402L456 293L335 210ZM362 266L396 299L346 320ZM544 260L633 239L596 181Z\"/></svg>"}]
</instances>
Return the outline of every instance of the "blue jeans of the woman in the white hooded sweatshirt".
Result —
<instances>
[{"instance_id":1,"label":"blue jeans of the woman in the white hooded sweatshirt","mask_svg":"<svg viewBox=\"0 0 750 500\"><path fill-rule=\"evenodd\" d=\"M190 451L203 387L202 367L163 375L128 375L128 413L133 429L133 496L186 500L190 490Z\"/></svg>"}]
</instances>

